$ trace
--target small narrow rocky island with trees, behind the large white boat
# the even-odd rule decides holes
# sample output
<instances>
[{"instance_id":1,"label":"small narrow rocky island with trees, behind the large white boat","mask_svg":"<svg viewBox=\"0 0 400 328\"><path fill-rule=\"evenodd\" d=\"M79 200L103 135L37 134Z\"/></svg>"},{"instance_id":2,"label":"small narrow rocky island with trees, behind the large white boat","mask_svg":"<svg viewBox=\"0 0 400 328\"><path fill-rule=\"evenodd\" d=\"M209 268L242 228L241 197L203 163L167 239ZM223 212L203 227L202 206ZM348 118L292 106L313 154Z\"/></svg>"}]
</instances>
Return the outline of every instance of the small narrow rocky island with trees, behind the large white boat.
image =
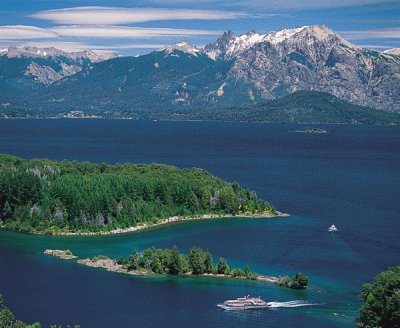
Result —
<instances>
[{"instance_id":1,"label":"small narrow rocky island with trees, behind the large white boat","mask_svg":"<svg viewBox=\"0 0 400 328\"><path fill-rule=\"evenodd\" d=\"M280 287L291 289L304 289L308 285L308 277L298 273L294 278L275 277L259 275L251 271L248 265L244 269L232 267L228 261L220 257L219 261L213 261L210 252L200 247L192 247L187 254L179 252L176 246L166 249L156 249L154 247L145 249L143 252L133 251L128 258L110 259L105 255L98 255L91 259L80 259L70 251L69 255L73 258L60 256L63 251L47 249L46 255L59 257L63 260L74 259L78 264L92 268L102 268L110 272L124 273L134 276L149 275L177 275L201 276L213 278L233 278L259 280L273 283Z\"/></svg>"}]
</instances>

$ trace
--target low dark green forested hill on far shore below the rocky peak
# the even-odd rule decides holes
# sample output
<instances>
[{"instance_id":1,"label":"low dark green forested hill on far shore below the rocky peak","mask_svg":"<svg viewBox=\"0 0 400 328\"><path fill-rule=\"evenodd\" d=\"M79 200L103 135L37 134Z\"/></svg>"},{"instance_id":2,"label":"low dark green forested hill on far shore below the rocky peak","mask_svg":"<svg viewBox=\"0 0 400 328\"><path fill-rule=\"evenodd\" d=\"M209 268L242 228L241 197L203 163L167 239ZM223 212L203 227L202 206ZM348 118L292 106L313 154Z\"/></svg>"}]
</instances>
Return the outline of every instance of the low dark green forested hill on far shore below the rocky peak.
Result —
<instances>
[{"instance_id":1,"label":"low dark green forested hill on far shore below the rocky peak","mask_svg":"<svg viewBox=\"0 0 400 328\"><path fill-rule=\"evenodd\" d=\"M138 113L123 116L138 117ZM138 118L165 120L210 120L267 123L399 124L400 114L358 106L328 93L299 91L252 106L190 108L141 113ZM143 117L143 115L146 115Z\"/></svg>"}]
</instances>

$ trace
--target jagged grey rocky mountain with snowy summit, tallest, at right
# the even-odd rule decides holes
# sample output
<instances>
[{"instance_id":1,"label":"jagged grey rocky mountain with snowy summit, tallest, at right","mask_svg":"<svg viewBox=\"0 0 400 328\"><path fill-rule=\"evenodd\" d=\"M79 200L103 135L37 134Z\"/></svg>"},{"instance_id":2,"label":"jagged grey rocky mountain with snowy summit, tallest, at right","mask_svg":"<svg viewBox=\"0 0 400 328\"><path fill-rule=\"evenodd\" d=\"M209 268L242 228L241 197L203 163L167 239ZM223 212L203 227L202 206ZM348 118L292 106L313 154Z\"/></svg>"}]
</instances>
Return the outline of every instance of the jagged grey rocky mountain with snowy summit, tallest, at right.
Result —
<instances>
[{"instance_id":1,"label":"jagged grey rocky mountain with snowy summit, tallest, at right","mask_svg":"<svg viewBox=\"0 0 400 328\"><path fill-rule=\"evenodd\" d=\"M326 26L239 37L227 32L205 51L233 59L229 77L256 86L264 99L314 90L363 106L400 110L396 51L363 49Z\"/></svg>"}]
</instances>

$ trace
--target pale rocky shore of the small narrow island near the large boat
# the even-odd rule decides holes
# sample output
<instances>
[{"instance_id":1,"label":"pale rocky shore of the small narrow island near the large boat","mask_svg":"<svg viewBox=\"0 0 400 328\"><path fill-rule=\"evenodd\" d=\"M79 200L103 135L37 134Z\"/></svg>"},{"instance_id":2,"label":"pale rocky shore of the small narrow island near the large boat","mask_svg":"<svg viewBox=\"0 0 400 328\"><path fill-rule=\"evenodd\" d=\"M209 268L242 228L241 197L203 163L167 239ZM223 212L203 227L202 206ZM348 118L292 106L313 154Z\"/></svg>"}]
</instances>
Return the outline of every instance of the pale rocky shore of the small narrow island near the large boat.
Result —
<instances>
[{"instance_id":1,"label":"pale rocky shore of the small narrow island near the large boat","mask_svg":"<svg viewBox=\"0 0 400 328\"><path fill-rule=\"evenodd\" d=\"M128 270L125 269L121 264L118 264L116 260L110 259L108 257L99 258L96 261L89 258L79 258L78 256L72 255L69 251L59 250L59 249L46 249L43 254L58 257L65 261L73 260L75 263L84 265L90 268L98 268L103 269L108 272L115 272L115 273L123 273L131 276L141 276L141 277L157 277L157 276L170 276L170 277L208 277L208 278L224 278L224 279L236 279L236 280L253 280L253 281L262 281L265 283L275 284L279 277L275 276L268 276L268 275L257 275L256 279L247 279L245 277L233 277L225 274L213 274L213 273L204 273L204 274L190 274L190 273L183 273L178 275L171 275L171 274L156 274L154 272L149 271L140 271L140 270Z\"/></svg>"}]
</instances>

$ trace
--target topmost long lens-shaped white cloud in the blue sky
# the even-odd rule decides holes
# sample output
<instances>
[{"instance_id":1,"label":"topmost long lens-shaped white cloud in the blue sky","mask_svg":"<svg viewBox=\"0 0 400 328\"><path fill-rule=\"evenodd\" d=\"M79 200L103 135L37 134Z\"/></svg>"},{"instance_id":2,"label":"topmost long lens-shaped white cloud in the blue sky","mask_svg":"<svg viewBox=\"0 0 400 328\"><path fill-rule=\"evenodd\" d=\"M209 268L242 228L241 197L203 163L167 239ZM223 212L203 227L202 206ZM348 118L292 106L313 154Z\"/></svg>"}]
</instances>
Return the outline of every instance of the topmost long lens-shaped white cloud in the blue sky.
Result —
<instances>
[{"instance_id":1,"label":"topmost long lens-shaped white cloud in the blue sky","mask_svg":"<svg viewBox=\"0 0 400 328\"><path fill-rule=\"evenodd\" d=\"M220 20L248 17L233 11L168 9L168 8L119 8L75 7L41 11L30 17L56 24L115 25L162 20Z\"/></svg>"}]
</instances>

